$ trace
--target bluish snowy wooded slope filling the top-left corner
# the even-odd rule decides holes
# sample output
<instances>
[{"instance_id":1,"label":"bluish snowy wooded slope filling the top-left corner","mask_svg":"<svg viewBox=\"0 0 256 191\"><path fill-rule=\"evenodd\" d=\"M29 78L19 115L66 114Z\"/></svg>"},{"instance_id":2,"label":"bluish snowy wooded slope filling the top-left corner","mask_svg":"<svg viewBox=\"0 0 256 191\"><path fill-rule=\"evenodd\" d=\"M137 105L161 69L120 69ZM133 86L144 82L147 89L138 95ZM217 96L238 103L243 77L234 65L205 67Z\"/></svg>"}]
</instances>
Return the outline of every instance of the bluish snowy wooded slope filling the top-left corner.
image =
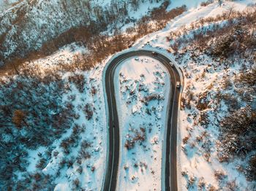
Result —
<instances>
[{"instance_id":1,"label":"bluish snowy wooded slope filling the top-left corner","mask_svg":"<svg viewBox=\"0 0 256 191\"><path fill-rule=\"evenodd\" d=\"M135 22L148 9L160 4L162 1L134 1L129 4L127 1L102 0L21 1L0 13L0 65L7 58L28 55L43 44L45 49L42 51L52 53L65 44L75 42L74 31L79 28L91 36ZM57 36L59 39L49 42Z\"/></svg>"}]
</instances>

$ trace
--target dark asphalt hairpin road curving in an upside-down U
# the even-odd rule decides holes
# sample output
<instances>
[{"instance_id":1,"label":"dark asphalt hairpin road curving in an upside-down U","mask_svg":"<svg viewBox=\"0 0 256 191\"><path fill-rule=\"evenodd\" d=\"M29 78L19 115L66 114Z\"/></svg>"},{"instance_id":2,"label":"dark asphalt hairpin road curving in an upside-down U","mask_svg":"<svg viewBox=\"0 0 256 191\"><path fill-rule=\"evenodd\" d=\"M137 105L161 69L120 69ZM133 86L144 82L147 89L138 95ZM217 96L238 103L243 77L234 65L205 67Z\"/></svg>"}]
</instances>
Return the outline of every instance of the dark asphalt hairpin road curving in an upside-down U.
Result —
<instances>
[{"instance_id":1,"label":"dark asphalt hairpin road curving in an upside-down U","mask_svg":"<svg viewBox=\"0 0 256 191\"><path fill-rule=\"evenodd\" d=\"M152 51L135 50L118 55L108 65L105 73L105 91L108 98L108 113L109 113L109 129L108 129L108 164L105 171L105 182L103 182L102 190L116 190L118 163L119 163L119 125L118 112L116 107L114 73L119 63L134 56L146 55L160 61L169 72L171 93L170 106L168 109L168 120L166 130L166 153L165 153L165 190L176 191L177 185L177 163L176 163L176 142L177 142L177 120L178 120L178 103L181 89L176 88L176 82L180 82L180 77L176 67L170 65L170 60L164 55L157 52L153 55ZM169 144L168 144L169 143Z\"/></svg>"}]
</instances>

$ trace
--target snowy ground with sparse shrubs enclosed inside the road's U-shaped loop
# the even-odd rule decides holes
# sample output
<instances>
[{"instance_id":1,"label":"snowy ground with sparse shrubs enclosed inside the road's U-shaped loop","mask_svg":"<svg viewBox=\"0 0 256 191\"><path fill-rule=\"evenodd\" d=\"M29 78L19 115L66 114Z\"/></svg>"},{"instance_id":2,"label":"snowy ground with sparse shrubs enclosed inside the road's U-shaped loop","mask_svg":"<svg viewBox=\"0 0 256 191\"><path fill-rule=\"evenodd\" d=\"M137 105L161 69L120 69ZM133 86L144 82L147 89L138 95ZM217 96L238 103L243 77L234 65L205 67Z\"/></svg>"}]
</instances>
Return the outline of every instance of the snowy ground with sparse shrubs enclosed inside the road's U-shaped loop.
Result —
<instances>
[{"instance_id":1,"label":"snowy ground with sparse shrubs enclosed inside the road's U-shaped loop","mask_svg":"<svg viewBox=\"0 0 256 191\"><path fill-rule=\"evenodd\" d=\"M121 63L115 73L121 133L118 190L161 190L170 79L154 58Z\"/></svg>"}]
</instances>

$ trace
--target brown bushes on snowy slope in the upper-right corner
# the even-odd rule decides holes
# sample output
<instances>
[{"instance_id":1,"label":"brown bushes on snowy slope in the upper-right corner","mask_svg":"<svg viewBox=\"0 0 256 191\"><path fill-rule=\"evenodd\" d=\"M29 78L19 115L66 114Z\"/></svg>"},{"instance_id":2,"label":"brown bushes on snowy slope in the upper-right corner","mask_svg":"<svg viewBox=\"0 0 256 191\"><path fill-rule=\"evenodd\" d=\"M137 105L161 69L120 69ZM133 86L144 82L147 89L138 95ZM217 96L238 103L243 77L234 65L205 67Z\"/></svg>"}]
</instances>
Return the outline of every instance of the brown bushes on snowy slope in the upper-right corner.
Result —
<instances>
[{"instance_id":1,"label":"brown bushes on snowy slope in the upper-right corner","mask_svg":"<svg viewBox=\"0 0 256 191\"><path fill-rule=\"evenodd\" d=\"M256 48L256 31L252 29L255 22L256 6L244 12L230 9L217 17L202 18L188 28L172 32L168 40L175 39L171 46L176 51L181 44L188 43L195 44L215 59L233 55L248 57Z\"/></svg>"}]
</instances>

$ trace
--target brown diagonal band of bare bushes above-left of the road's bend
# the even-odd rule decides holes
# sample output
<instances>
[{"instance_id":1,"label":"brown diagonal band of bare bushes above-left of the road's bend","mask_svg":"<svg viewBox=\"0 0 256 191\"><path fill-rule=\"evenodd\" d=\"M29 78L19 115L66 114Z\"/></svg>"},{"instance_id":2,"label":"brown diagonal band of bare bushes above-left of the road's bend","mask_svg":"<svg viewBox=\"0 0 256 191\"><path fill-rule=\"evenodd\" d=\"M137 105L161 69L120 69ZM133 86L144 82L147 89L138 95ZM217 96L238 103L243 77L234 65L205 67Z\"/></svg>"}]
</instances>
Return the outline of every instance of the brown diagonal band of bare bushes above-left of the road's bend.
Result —
<instances>
[{"instance_id":1,"label":"brown diagonal band of bare bushes above-left of the road's bend","mask_svg":"<svg viewBox=\"0 0 256 191\"><path fill-rule=\"evenodd\" d=\"M136 3L131 6L133 6L133 9L138 9L139 4L140 1L136 1ZM0 52L0 61L4 63L4 66L0 68L0 71L15 71L18 73L18 68L21 63L26 63L26 61L33 61L35 59L45 57L46 55L51 55L56 50L59 50L60 47L72 42L80 44L80 46L86 47L86 49L89 50L89 54L80 55L80 64L78 64L75 69L90 69L95 66L96 63L105 59L108 55L112 55L115 52L126 49L140 37L164 28L167 21L186 11L186 7L183 6L167 12L166 9L169 4L170 1L164 1L159 8L154 8L148 15L140 18L139 20L128 19L127 22L134 23L135 27L127 28L126 34L122 34L119 29L120 23L126 23L125 20L128 16L128 7L125 1L118 5L116 3L110 4L108 10L107 8L94 7L92 14L94 13L93 15L97 18L97 22L89 18L86 19L87 17L91 17L89 14L85 17L85 20L90 20L89 23L85 23L81 26L70 27L62 34L59 34L54 38L52 37L46 42L42 42L41 46L37 47L36 50L34 50L34 46L29 46L31 48L24 50L24 47L28 46L24 44L25 42L23 42L23 39L20 39L20 41L16 42L19 47L15 49L15 52L12 52L11 55L8 54L7 56L5 56L6 54L4 53L4 50L9 46L8 43L5 42L7 40L7 34L1 34L0 44L1 50L3 51ZM117 11L110 12L109 10L111 9ZM21 10L22 12L26 12L26 9L22 8ZM25 22L26 26L26 20L15 21L16 25L20 22ZM21 32L26 30L26 28L19 27L19 30ZM107 30L108 32L105 32ZM109 31L112 31L113 35L109 35ZM69 66L69 70L70 69L74 69L74 66Z\"/></svg>"}]
</instances>

